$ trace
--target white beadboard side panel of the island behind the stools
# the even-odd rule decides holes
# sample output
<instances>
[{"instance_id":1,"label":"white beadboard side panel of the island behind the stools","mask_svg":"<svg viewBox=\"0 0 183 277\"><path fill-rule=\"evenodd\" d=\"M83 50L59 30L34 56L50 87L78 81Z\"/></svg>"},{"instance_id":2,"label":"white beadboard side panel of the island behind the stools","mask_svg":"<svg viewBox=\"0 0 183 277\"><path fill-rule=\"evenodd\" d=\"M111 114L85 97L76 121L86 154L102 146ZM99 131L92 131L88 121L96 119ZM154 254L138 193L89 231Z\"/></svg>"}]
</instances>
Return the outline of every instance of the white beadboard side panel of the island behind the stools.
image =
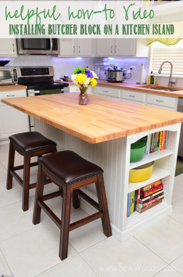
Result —
<instances>
[{"instance_id":1,"label":"white beadboard side panel of the island behind the stools","mask_svg":"<svg viewBox=\"0 0 183 277\"><path fill-rule=\"evenodd\" d=\"M57 143L57 151L72 150L81 155L84 159L103 168L111 224L122 231L122 195L124 195L124 163L126 160L127 137L91 144L40 120L34 120L35 130L39 131L47 138L53 139ZM82 190L92 199L98 201L95 184L84 187ZM92 207L92 209L94 208Z\"/></svg>"}]
</instances>

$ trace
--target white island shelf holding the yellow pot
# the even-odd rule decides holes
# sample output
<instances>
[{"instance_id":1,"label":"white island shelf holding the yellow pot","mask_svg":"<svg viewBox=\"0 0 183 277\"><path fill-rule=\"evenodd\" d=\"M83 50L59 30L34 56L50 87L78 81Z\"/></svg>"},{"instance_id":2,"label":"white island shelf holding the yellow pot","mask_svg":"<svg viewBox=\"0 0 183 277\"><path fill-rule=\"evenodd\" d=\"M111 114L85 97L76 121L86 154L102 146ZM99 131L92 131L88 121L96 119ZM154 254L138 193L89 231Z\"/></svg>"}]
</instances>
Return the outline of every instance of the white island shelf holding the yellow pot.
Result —
<instances>
[{"instance_id":1,"label":"white island shelf holding the yellow pot","mask_svg":"<svg viewBox=\"0 0 183 277\"><path fill-rule=\"evenodd\" d=\"M149 179L142 182L128 183L128 193L131 191L135 191L140 187L144 187L150 183L153 183L169 175L170 175L170 171L167 171L165 169L162 169L161 167L157 167L154 165L152 175Z\"/></svg>"}]
</instances>

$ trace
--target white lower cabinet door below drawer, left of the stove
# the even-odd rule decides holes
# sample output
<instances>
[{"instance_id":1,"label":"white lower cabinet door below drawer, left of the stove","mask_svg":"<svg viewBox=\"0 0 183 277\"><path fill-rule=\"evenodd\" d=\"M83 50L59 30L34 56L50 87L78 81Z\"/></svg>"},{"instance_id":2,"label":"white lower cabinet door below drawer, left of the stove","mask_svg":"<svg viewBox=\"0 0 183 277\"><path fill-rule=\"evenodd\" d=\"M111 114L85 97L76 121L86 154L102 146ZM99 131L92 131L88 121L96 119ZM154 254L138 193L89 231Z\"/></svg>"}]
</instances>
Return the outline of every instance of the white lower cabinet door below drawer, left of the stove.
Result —
<instances>
[{"instance_id":1,"label":"white lower cabinet door below drawer, left of the stove","mask_svg":"<svg viewBox=\"0 0 183 277\"><path fill-rule=\"evenodd\" d=\"M12 134L28 131L27 114L7 105L0 107L0 139L7 139Z\"/></svg>"}]
</instances>

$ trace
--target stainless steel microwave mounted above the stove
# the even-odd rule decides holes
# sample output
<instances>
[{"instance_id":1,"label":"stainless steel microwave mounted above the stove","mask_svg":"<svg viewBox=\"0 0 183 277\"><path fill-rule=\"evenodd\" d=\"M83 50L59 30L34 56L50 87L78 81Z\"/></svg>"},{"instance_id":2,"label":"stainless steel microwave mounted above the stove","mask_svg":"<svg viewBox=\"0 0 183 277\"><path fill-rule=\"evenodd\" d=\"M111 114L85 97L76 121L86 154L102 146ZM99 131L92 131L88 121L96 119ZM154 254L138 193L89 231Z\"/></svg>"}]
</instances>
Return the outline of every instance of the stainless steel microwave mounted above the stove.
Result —
<instances>
[{"instance_id":1,"label":"stainless steel microwave mounted above the stove","mask_svg":"<svg viewBox=\"0 0 183 277\"><path fill-rule=\"evenodd\" d=\"M58 38L17 38L17 53L51 55L60 54Z\"/></svg>"}]
</instances>

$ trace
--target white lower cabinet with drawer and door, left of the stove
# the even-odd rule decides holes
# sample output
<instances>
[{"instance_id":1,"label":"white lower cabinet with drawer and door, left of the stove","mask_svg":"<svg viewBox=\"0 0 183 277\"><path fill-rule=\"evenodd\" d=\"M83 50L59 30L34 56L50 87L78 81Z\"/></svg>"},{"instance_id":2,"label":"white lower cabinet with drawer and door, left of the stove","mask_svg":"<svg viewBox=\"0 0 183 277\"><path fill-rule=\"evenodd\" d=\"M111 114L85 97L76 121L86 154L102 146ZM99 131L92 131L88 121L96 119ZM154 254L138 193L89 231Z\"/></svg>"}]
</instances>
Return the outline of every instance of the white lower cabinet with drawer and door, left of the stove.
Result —
<instances>
[{"instance_id":1,"label":"white lower cabinet with drawer and door, left of the stove","mask_svg":"<svg viewBox=\"0 0 183 277\"><path fill-rule=\"evenodd\" d=\"M1 102L2 98L26 96L26 90L0 91L0 139L7 139L10 135L28 132L28 115Z\"/></svg>"}]
</instances>

